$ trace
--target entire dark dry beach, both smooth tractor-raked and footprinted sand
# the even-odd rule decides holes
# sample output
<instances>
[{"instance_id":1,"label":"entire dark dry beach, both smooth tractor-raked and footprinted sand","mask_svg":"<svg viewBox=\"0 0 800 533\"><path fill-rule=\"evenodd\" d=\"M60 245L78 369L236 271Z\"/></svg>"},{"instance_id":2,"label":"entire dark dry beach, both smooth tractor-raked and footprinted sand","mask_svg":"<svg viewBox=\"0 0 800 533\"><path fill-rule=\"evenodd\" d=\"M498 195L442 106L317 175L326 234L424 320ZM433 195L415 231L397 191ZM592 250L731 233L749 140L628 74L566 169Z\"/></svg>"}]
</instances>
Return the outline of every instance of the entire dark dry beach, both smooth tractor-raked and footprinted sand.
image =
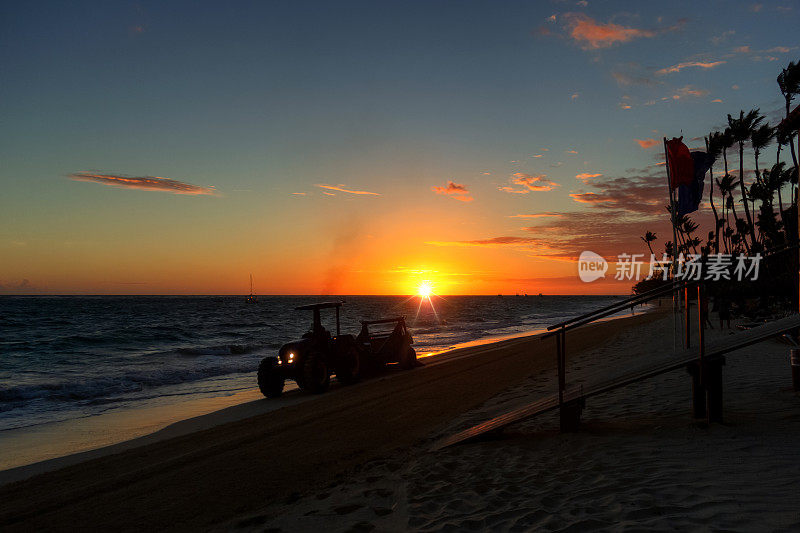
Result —
<instances>
[{"instance_id":1,"label":"entire dark dry beach, both smooth tractor-raked and footprinted sand","mask_svg":"<svg viewBox=\"0 0 800 533\"><path fill-rule=\"evenodd\" d=\"M671 348L661 313L569 337L571 376ZM439 452L439 436L554 390L552 339L454 352L296 405L0 487L4 530L524 530L797 527L800 408L788 348L729 356L726 424L682 371ZM588 374L587 374L588 375Z\"/></svg>"}]
</instances>

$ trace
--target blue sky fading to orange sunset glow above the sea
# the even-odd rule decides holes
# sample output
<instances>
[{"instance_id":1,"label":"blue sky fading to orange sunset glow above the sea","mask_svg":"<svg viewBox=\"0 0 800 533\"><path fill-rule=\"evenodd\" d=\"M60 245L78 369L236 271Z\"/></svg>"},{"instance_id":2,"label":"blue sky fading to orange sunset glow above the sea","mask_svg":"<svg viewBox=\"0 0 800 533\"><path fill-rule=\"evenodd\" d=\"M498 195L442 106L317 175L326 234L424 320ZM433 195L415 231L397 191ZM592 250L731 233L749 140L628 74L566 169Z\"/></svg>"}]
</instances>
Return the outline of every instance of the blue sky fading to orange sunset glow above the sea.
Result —
<instances>
[{"instance_id":1,"label":"blue sky fading to orange sunset glow above the sea","mask_svg":"<svg viewBox=\"0 0 800 533\"><path fill-rule=\"evenodd\" d=\"M570 195L597 187L576 176L646 169L662 136L700 146L751 107L774 123L798 14L788 0L4 3L0 284L229 292L256 271L275 280L264 292L317 292L348 239L375 273L347 264L331 290L390 290L395 267L442 254L493 269L458 291L564 276L530 242L439 248L528 238L517 214L591 213ZM448 181L468 195L432 190ZM393 256L366 242L392 238ZM300 273L279 260L296 254Z\"/></svg>"}]
</instances>

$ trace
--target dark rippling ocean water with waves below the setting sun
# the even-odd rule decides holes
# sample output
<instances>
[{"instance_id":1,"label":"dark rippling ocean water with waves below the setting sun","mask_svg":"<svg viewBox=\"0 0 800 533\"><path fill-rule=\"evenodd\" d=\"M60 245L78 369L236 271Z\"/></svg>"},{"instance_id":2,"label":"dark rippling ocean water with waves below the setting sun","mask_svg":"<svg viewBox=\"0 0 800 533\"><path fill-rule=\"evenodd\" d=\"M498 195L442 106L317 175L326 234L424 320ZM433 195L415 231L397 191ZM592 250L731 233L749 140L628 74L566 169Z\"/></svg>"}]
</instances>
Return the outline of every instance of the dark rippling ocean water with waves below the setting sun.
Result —
<instances>
[{"instance_id":1,"label":"dark rippling ocean water with waves below the setting sun","mask_svg":"<svg viewBox=\"0 0 800 533\"><path fill-rule=\"evenodd\" d=\"M0 431L252 389L259 361L309 329L311 313L294 308L330 299L0 297ZM405 316L425 354L539 330L619 298L337 299L346 301L343 333L357 334L360 320ZM323 323L334 331L330 311Z\"/></svg>"}]
</instances>

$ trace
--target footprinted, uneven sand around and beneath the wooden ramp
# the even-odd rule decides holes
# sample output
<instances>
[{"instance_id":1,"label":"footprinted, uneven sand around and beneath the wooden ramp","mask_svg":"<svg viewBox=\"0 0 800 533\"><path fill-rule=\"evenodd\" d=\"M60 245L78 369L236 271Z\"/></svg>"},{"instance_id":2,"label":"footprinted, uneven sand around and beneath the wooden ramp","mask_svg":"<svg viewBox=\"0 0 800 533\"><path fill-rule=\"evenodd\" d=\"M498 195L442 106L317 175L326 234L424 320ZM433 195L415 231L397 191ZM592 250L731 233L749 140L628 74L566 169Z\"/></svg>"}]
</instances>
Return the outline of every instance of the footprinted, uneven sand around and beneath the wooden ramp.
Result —
<instances>
[{"instance_id":1,"label":"footprinted, uneven sand around and beneath the wooden ramp","mask_svg":"<svg viewBox=\"0 0 800 533\"><path fill-rule=\"evenodd\" d=\"M668 317L628 326L574 357L572 378L671 347ZM709 341L727 334L712 330ZM557 414L548 414L501 438L437 452L431 439L402 460L373 462L346 482L222 529L797 530L800 401L788 352L770 341L727 357L724 424L692 420L689 376L679 370L590 398L577 433L559 433ZM554 380L551 371L534 375L439 436L545 395Z\"/></svg>"}]
</instances>

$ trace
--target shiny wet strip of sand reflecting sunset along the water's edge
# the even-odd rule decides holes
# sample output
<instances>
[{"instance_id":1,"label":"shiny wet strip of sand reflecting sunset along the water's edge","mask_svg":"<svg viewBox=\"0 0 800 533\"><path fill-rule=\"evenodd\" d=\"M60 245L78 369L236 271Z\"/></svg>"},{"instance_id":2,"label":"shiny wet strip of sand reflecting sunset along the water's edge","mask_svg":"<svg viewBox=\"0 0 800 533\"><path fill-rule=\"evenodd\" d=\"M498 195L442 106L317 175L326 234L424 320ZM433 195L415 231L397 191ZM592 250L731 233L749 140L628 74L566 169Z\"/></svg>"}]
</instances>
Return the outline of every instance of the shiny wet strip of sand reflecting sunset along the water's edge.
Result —
<instances>
[{"instance_id":1,"label":"shiny wet strip of sand reflecting sunset along the water's edge","mask_svg":"<svg viewBox=\"0 0 800 533\"><path fill-rule=\"evenodd\" d=\"M653 309L657 308L646 306L640 308L635 315ZM630 316L634 315L621 312L602 321ZM453 358L473 355L478 348L496 349L495 345L502 347L502 343L507 341L528 339L545 331L546 329L539 328L480 337L455 343L443 350L425 352L419 355L419 359L426 366L441 364ZM394 373L382 377L392 375ZM253 382L255 383L255 374ZM330 392L338 388L334 386ZM0 432L4 437L4 442L0 444L0 457L14 457L16 460L7 459L0 463L0 486L85 460L268 413L314 397L301 394L296 385L290 382L287 383L283 397L277 402L266 400L258 387L253 386L230 395L198 397L182 402L169 402L159 398L156 402L151 402L151 405L126 407L87 417L8 429Z\"/></svg>"}]
</instances>

